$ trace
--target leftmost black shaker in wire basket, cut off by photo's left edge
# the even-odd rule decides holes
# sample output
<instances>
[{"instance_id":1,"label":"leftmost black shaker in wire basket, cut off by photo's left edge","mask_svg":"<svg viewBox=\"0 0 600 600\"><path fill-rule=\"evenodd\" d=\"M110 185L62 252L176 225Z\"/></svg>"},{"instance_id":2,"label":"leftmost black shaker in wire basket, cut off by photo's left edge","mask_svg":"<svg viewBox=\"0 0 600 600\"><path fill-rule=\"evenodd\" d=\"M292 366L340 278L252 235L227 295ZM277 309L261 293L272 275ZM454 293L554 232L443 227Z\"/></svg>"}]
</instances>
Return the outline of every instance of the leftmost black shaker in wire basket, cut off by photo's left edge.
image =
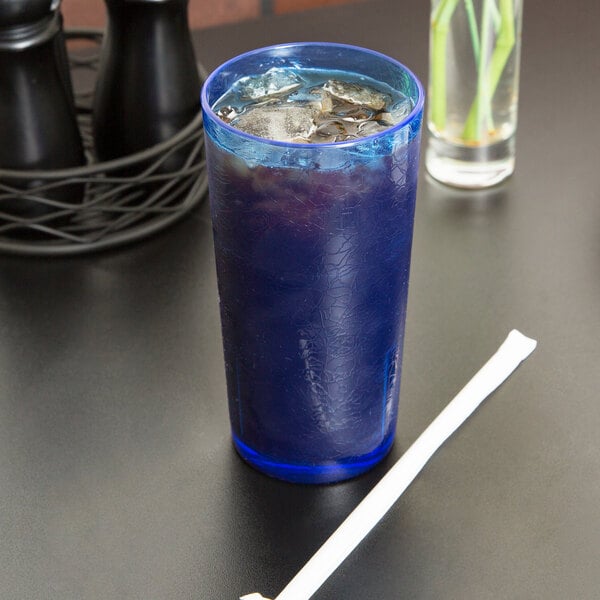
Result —
<instances>
[{"instance_id":1,"label":"leftmost black shaker in wire basket, cut off by photo's left edge","mask_svg":"<svg viewBox=\"0 0 600 600\"><path fill-rule=\"evenodd\" d=\"M58 55L63 43L57 0L0 2L0 169L47 171L85 164L72 90ZM3 178L17 189L45 183ZM69 184L0 200L0 213L37 218L57 208L45 200L76 204L83 187ZM41 196L41 200L37 197ZM6 219L0 217L0 223ZM53 222L44 220L45 224Z\"/></svg>"}]
</instances>

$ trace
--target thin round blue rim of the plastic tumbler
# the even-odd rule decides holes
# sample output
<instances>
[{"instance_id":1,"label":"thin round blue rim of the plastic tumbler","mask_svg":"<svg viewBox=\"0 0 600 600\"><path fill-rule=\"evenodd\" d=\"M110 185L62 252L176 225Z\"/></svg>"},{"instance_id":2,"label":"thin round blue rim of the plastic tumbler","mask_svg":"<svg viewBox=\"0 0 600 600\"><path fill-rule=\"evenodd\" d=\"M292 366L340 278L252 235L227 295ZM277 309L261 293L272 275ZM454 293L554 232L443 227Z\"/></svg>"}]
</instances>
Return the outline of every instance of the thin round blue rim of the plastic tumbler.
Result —
<instances>
[{"instance_id":1,"label":"thin round blue rim of the plastic tumbler","mask_svg":"<svg viewBox=\"0 0 600 600\"><path fill-rule=\"evenodd\" d=\"M375 56L377 58L385 60L388 63L393 64L394 66L396 66L399 69L401 69L402 71L404 71L410 77L410 79L412 81L414 81L414 83L416 84L417 99L415 101L415 104L414 104L412 110L400 122L396 123L395 125L392 125L391 127L387 127L383 131L379 131L377 133L372 133L372 134L366 135L364 137L354 138L352 140L345 140L342 142L317 142L317 143L308 143L307 144L307 143L302 143L302 142L286 142L286 141L281 141L281 140L271 140L269 138L260 137L260 136L254 135L252 133L247 133L247 132L242 131L241 129L237 129L236 127L233 127L233 125L230 125L229 123L226 123L225 121L223 121L217 115L217 113L212 109L212 106L208 102L207 90L209 89L213 80L216 79L218 74L221 73L223 70L227 69L229 66L237 63L238 61L240 61L244 58L248 58L248 57L251 57L254 55L263 54L265 52L270 52L270 51L278 50L278 49L282 49L282 48L294 48L294 47L300 47L300 46L301 47L310 47L310 46L317 47L318 46L318 47L329 47L329 48L354 50L354 51L358 51L358 52L361 52L364 54L370 54L371 56ZM361 144L365 141L373 141L377 138L382 138L382 137L388 136L390 134L393 134L397 131L404 129L407 125L410 125L410 123L413 122L417 118L417 116L423 111L424 103L425 103L425 90L423 88L423 85L421 84L419 78L406 65L404 65L400 61L396 60L395 58L388 56L387 54L378 52L377 50L371 50L370 48L363 48L362 46L355 46L353 44L341 44L341 43L337 43L337 42L286 42L286 43L282 43L282 44L273 44L270 46L264 46L262 48L256 48L254 50L249 50L248 52L243 52L242 54L238 54L238 55L230 58L229 60L225 61L224 63L222 63L215 69L213 69L213 71L210 73L210 75L206 78L204 85L202 86L202 90L200 92L200 104L201 104L202 110L213 121L218 123L218 125L220 127L223 127L225 130L227 130L237 136L240 136L242 138L246 138L254 143L262 143L262 144L268 144L268 145L279 146L279 147L284 147L284 148L292 147L292 148L304 148L304 149L349 147L349 146L355 146L357 144Z\"/></svg>"}]
</instances>

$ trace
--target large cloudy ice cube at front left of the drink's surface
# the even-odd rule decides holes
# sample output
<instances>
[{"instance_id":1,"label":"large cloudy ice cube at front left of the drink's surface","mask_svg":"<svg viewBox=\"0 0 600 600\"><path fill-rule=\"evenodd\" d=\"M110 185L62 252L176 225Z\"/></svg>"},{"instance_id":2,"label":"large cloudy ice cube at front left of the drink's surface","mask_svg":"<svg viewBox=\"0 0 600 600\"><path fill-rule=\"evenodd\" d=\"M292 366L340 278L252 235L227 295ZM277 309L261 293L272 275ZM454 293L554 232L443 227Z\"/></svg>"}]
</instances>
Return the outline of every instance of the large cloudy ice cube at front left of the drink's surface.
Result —
<instances>
[{"instance_id":1,"label":"large cloudy ice cube at front left of the drink's surface","mask_svg":"<svg viewBox=\"0 0 600 600\"><path fill-rule=\"evenodd\" d=\"M282 142L308 142L316 129L312 104L251 105L231 124L246 133Z\"/></svg>"}]
</instances>

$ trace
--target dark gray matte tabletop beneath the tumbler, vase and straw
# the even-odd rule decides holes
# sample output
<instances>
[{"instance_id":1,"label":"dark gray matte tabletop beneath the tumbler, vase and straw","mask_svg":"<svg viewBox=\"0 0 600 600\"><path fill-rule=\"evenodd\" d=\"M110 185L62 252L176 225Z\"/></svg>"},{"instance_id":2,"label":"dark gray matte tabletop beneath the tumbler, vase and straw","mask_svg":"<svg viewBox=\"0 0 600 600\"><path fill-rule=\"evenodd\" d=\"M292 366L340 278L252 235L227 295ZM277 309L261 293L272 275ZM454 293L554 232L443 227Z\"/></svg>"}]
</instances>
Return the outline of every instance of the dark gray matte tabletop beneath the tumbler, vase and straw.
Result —
<instances>
[{"instance_id":1,"label":"dark gray matte tabletop beneath the tumbler, vase and straw","mask_svg":"<svg viewBox=\"0 0 600 600\"><path fill-rule=\"evenodd\" d=\"M315 596L593 599L600 590L600 10L525 3L517 170L420 181L397 443L294 486L229 441L204 204L144 242L0 257L0 597L275 596L518 328L532 357ZM428 5L374 0L207 30L208 68L344 41L427 78Z\"/></svg>"}]
</instances>

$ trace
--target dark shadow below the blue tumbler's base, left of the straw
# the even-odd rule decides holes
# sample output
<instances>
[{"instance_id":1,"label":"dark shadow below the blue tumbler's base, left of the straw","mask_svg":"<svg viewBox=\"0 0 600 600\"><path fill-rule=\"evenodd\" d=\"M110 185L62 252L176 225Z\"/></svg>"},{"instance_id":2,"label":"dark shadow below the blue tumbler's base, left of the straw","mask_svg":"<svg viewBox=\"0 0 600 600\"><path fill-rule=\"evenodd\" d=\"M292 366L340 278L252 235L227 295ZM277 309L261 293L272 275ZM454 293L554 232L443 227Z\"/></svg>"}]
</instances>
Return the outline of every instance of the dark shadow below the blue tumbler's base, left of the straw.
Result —
<instances>
[{"instance_id":1,"label":"dark shadow below the blue tumbler's base, left of the straw","mask_svg":"<svg viewBox=\"0 0 600 600\"><path fill-rule=\"evenodd\" d=\"M396 457L397 458L397 457ZM231 450L223 531L224 556L215 564L231 577L231 600L250 592L274 598L394 462L333 485L297 485L271 479ZM240 588L234 588L238 584Z\"/></svg>"}]
</instances>

